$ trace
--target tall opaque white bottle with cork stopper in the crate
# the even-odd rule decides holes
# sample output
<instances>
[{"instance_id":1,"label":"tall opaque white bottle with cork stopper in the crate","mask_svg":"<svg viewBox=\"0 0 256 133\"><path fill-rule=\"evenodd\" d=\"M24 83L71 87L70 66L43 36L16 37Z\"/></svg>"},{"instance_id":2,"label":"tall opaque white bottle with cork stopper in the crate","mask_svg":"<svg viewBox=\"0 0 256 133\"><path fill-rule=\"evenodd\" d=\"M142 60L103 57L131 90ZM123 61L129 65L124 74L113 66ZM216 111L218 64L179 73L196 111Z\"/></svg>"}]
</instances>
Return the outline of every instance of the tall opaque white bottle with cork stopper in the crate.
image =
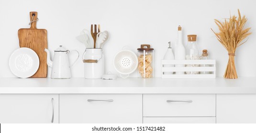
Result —
<instances>
[{"instance_id":1,"label":"tall opaque white bottle with cork stopper in the crate","mask_svg":"<svg viewBox=\"0 0 256 133\"><path fill-rule=\"evenodd\" d=\"M182 31L181 27L178 26L178 43L174 49L174 59L176 60L184 60L186 49L182 43ZM175 67L184 67L184 65L175 65ZM176 72L176 74L184 74L184 72Z\"/></svg>"}]
</instances>

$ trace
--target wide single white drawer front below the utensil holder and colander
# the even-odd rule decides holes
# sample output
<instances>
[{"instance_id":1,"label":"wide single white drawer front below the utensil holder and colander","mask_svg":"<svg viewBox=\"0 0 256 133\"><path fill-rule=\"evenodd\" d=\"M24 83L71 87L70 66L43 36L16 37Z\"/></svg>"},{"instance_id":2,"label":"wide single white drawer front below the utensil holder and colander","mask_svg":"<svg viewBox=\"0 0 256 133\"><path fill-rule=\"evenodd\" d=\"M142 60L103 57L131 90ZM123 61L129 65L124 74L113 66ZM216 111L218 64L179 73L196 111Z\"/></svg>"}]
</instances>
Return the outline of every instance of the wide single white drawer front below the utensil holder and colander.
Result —
<instances>
[{"instance_id":1,"label":"wide single white drawer front below the utensil holder and colander","mask_svg":"<svg viewBox=\"0 0 256 133\"><path fill-rule=\"evenodd\" d=\"M61 94L60 123L142 123L140 94Z\"/></svg>"}]
</instances>

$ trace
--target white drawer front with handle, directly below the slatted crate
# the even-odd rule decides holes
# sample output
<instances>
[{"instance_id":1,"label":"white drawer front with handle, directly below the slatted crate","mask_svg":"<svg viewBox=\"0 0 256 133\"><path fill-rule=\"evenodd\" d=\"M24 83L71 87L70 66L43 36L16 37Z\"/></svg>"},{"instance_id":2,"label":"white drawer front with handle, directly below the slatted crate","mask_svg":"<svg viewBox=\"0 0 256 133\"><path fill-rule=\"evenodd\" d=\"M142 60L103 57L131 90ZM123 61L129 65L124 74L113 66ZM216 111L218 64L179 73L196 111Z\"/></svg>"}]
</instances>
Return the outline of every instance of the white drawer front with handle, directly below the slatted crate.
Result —
<instances>
[{"instance_id":1,"label":"white drawer front with handle, directly below the slatted crate","mask_svg":"<svg viewBox=\"0 0 256 133\"><path fill-rule=\"evenodd\" d=\"M171 116L215 116L215 94L145 94L143 115Z\"/></svg>"}]
</instances>

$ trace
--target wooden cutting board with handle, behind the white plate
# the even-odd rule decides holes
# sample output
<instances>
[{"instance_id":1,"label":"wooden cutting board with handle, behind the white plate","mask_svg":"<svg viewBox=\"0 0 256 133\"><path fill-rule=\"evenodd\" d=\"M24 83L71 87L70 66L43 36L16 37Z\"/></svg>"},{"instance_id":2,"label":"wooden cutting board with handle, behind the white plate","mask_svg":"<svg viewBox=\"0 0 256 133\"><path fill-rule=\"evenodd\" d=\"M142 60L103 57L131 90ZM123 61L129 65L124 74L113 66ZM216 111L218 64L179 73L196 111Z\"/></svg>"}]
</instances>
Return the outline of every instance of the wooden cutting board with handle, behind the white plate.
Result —
<instances>
[{"instance_id":1,"label":"wooden cutting board with handle, behind the white plate","mask_svg":"<svg viewBox=\"0 0 256 133\"><path fill-rule=\"evenodd\" d=\"M33 20L32 20L33 19ZM30 12L30 21L37 19L37 12ZM47 48L47 30L37 29L36 21L31 23L30 28L21 28L18 31L20 47L28 47L33 49L39 57L40 65L37 72L31 77L46 77L47 76L47 62L46 52Z\"/></svg>"}]
</instances>

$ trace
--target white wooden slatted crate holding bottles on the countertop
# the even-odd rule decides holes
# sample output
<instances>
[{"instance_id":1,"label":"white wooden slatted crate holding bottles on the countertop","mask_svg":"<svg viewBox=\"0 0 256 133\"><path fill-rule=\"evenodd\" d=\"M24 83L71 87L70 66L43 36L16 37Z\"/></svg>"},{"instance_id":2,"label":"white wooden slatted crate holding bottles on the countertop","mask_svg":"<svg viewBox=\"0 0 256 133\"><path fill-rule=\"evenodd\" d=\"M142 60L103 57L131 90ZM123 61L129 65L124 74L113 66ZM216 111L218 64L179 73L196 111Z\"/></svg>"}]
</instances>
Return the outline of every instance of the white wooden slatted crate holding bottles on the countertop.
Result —
<instances>
[{"instance_id":1,"label":"white wooden slatted crate holding bottles on the countertop","mask_svg":"<svg viewBox=\"0 0 256 133\"><path fill-rule=\"evenodd\" d=\"M172 67L168 65L184 65L182 67ZM198 65L186 67L186 65ZM205 65L205 66L203 66ZM210 72L210 74L164 74L164 72ZM215 78L216 60L161 60L162 78Z\"/></svg>"}]
</instances>

